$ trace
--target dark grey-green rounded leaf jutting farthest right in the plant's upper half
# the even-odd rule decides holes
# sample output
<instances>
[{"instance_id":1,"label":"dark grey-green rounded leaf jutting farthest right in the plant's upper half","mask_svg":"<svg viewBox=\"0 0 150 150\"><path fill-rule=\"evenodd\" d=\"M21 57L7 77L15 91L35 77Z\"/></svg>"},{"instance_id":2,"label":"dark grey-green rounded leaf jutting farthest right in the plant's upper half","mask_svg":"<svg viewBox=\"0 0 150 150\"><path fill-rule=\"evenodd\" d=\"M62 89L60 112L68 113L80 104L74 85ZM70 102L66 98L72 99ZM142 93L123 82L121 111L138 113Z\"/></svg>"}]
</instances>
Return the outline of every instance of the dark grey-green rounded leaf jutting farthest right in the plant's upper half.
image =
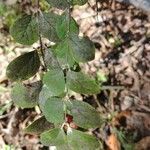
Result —
<instances>
[{"instance_id":1,"label":"dark grey-green rounded leaf jutting farthest right in the plant's upper half","mask_svg":"<svg viewBox=\"0 0 150 150\"><path fill-rule=\"evenodd\" d=\"M94 44L88 37L78 37L77 34L69 36L69 49L77 62L88 62L95 57Z\"/></svg>"}]
</instances>

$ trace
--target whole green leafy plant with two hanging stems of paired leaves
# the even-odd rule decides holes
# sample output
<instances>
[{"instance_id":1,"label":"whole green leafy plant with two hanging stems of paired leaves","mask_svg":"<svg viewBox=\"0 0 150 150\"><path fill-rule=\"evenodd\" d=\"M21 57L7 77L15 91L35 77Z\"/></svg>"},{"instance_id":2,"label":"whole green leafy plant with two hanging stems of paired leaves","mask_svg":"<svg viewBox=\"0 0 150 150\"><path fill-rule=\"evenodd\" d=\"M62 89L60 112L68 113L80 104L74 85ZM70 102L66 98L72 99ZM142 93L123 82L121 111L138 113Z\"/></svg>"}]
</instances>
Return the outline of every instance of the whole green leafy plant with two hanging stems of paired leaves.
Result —
<instances>
[{"instance_id":1,"label":"whole green leafy plant with two hanging stems of paired leaves","mask_svg":"<svg viewBox=\"0 0 150 150\"><path fill-rule=\"evenodd\" d=\"M40 43L37 49L17 57L7 67L8 78L16 82L12 100L21 108L39 106L43 116L25 132L39 134L43 145L56 146L58 150L99 149L98 139L85 131L101 126L100 114L88 103L70 99L70 91L90 95L100 92L96 80L79 67L80 62L94 59L94 45L88 37L78 36L79 27L70 14L74 5L83 5L87 0L47 2L63 13L41 11L38 1L37 11L21 14L10 29L20 44ZM44 46L43 38L55 45ZM38 74L40 66L44 66L41 80L25 84L23 81Z\"/></svg>"}]
</instances>

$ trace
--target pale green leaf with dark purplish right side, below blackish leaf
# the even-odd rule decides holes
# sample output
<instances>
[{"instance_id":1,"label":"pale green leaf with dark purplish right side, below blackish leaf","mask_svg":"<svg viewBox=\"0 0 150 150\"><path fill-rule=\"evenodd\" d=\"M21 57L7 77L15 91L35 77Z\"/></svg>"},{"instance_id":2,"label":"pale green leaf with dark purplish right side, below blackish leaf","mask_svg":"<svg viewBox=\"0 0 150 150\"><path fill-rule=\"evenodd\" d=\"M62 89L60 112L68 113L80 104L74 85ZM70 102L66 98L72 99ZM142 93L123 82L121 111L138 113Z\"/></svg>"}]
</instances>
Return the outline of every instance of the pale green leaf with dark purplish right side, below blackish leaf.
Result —
<instances>
[{"instance_id":1,"label":"pale green leaf with dark purplish right side, below blackish leaf","mask_svg":"<svg viewBox=\"0 0 150 150\"><path fill-rule=\"evenodd\" d=\"M41 82L34 82L26 87L16 83L11 92L12 100L22 108L32 108L38 103L41 87Z\"/></svg>"}]
</instances>

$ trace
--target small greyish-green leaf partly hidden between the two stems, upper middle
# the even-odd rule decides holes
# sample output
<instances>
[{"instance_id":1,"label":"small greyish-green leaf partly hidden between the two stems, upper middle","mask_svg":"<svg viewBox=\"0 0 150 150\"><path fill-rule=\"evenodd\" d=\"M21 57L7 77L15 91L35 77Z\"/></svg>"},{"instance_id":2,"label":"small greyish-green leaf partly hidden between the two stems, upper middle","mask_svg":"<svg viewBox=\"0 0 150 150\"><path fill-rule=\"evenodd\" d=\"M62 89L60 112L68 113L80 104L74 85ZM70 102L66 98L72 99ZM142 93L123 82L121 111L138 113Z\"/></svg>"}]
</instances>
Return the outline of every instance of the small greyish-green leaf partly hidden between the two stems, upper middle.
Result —
<instances>
[{"instance_id":1,"label":"small greyish-green leaf partly hidden between the two stems, upper middle","mask_svg":"<svg viewBox=\"0 0 150 150\"><path fill-rule=\"evenodd\" d=\"M50 70L61 68L52 49L46 49L45 50L44 61L46 63L47 68Z\"/></svg>"}]
</instances>

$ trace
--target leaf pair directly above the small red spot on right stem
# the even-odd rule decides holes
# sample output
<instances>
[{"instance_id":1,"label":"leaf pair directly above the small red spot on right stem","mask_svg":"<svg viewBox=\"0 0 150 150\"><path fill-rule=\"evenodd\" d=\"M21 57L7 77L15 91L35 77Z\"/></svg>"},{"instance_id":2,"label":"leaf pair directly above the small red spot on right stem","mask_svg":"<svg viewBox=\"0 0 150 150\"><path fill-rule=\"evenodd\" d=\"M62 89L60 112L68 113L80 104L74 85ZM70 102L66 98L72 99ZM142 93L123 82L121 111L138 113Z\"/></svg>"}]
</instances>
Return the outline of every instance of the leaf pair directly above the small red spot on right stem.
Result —
<instances>
[{"instance_id":1,"label":"leaf pair directly above the small red spot on right stem","mask_svg":"<svg viewBox=\"0 0 150 150\"><path fill-rule=\"evenodd\" d=\"M66 108L66 110L64 109ZM43 114L49 122L62 124L65 112L73 116L74 123L82 128L96 128L102 123L99 113L89 104L82 101L66 102L60 98L49 98L43 103Z\"/></svg>"}]
</instances>

